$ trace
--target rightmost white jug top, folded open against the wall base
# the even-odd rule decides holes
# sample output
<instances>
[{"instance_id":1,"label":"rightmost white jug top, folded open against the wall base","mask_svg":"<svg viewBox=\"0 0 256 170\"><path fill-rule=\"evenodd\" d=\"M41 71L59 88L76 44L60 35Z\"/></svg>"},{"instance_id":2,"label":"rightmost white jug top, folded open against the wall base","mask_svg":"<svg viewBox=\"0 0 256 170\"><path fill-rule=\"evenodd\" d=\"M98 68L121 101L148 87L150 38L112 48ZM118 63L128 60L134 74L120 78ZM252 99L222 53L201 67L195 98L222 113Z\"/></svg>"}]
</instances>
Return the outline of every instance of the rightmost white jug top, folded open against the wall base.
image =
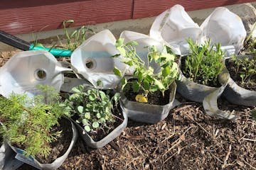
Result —
<instances>
[{"instance_id":1,"label":"rightmost white jug top, folded open against the wall base","mask_svg":"<svg viewBox=\"0 0 256 170\"><path fill-rule=\"evenodd\" d=\"M222 46L233 45L235 53L243 47L246 37L241 18L224 7L216 8L202 23L201 29L203 30L201 42L210 38L212 45L218 42Z\"/></svg>"}]
</instances>

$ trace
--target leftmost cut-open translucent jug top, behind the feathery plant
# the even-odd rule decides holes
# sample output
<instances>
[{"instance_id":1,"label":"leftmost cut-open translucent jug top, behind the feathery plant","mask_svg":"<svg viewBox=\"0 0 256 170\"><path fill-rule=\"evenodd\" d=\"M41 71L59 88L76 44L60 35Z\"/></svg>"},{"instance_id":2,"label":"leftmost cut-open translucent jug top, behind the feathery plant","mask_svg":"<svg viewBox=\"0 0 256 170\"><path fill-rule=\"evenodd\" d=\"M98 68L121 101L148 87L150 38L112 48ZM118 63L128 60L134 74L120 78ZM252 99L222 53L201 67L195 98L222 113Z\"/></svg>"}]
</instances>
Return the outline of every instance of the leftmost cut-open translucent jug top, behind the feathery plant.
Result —
<instances>
[{"instance_id":1,"label":"leftmost cut-open translucent jug top, behind the feathery plant","mask_svg":"<svg viewBox=\"0 0 256 170\"><path fill-rule=\"evenodd\" d=\"M11 92L26 93L32 97L40 93L36 88L38 84L60 91L64 71L71 69L61 67L50 52L18 52L0 69L0 94L7 97Z\"/></svg>"}]
</instances>

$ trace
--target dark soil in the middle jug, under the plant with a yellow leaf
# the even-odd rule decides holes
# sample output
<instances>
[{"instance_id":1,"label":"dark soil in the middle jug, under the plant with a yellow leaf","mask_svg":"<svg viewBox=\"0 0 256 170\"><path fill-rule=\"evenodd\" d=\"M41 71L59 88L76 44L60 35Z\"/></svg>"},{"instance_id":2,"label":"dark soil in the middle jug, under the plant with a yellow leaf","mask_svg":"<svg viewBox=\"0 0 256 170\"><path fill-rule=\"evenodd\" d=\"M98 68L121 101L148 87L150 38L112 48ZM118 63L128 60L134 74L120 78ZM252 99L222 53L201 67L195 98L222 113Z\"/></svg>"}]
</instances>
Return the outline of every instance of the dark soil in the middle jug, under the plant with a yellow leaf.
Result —
<instances>
[{"instance_id":1,"label":"dark soil in the middle jug, under the plant with a yellow leaf","mask_svg":"<svg viewBox=\"0 0 256 170\"><path fill-rule=\"evenodd\" d=\"M164 91L164 97L163 97L161 91L156 91L152 94L149 93L147 96L147 99L148 99L147 104L160 105L160 106L164 106L164 105L168 104L170 101L170 91L171 91L171 89ZM126 96L129 101L136 101L135 97L137 96L137 94L142 94L142 93L143 93L143 91L134 93L132 91L132 89L129 89L128 91L126 91L124 93L124 96Z\"/></svg>"}]
</instances>

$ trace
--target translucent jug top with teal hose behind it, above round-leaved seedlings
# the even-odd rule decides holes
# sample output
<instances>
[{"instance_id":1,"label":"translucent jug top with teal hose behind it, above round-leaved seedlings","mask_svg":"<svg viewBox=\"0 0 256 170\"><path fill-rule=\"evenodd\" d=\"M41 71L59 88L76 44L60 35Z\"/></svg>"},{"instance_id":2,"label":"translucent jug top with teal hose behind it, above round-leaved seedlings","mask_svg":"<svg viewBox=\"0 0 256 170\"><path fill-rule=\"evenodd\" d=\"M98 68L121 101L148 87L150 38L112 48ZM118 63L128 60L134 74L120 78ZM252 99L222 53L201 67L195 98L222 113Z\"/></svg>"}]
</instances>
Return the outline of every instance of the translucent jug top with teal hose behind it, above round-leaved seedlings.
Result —
<instances>
[{"instance_id":1,"label":"translucent jug top with teal hose behind it, above round-leaved seedlings","mask_svg":"<svg viewBox=\"0 0 256 170\"><path fill-rule=\"evenodd\" d=\"M90 81L100 89L114 89L119 84L113 69L117 67L124 74L127 65L122 63L122 57L112 57L119 54L114 43L116 39L110 30L102 30L85 40L71 55L71 64L75 72ZM98 86L98 82L102 83Z\"/></svg>"}]
</instances>

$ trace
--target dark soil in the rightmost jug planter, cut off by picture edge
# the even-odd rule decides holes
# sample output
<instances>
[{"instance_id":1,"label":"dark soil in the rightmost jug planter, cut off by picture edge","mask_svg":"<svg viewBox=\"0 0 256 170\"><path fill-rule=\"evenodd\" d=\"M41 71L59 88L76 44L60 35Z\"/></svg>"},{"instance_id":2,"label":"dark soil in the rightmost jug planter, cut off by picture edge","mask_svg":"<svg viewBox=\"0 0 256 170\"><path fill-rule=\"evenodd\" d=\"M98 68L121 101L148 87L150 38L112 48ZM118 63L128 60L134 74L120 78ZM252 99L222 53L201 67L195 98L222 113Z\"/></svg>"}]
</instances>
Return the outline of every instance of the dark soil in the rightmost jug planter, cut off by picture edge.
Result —
<instances>
[{"instance_id":1,"label":"dark soil in the rightmost jug planter, cut off by picture edge","mask_svg":"<svg viewBox=\"0 0 256 170\"><path fill-rule=\"evenodd\" d=\"M251 81L245 82L244 84L242 84L242 79L239 76L239 74L237 74L235 72L235 64L234 62L231 62L230 60L226 60L225 61L225 66L228 69L228 72L230 73L230 77L231 79L233 79L235 81L236 84L238 84L238 86L250 90L250 91L256 91L256 75L254 77L252 77ZM240 72L240 71L238 71Z\"/></svg>"}]
</instances>

